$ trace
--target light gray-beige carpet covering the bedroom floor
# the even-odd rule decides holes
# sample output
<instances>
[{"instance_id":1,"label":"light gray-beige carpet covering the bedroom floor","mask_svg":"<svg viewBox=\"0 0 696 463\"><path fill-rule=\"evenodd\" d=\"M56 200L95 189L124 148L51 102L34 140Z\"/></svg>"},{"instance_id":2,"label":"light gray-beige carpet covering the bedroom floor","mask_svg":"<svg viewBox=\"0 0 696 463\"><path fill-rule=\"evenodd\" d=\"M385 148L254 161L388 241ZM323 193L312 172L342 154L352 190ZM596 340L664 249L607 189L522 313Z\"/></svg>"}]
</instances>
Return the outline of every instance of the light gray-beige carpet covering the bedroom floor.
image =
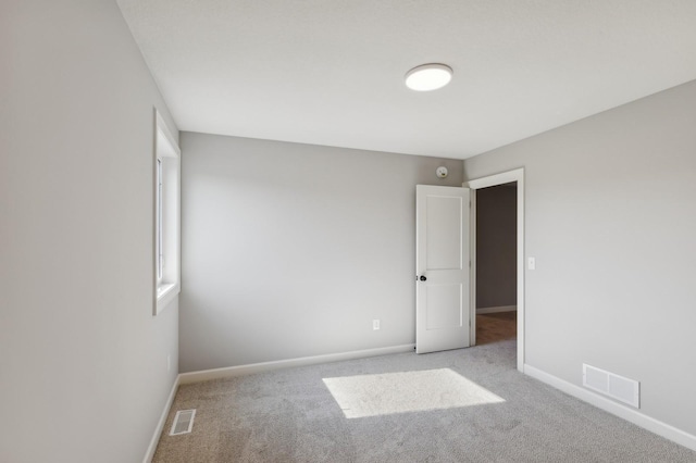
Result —
<instances>
[{"instance_id":1,"label":"light gray-beige carpet covering the bedroom floor","mask_svg":"<svg viewBox=\"0 0 696 463\"><path fill-rule=\"evenodd\" d=\"M167 436L184 409L197 409L192 433ZM154 462L696 462L696 452L518 373L508 339L182 386Z\"/></svg>"}]
</instances>

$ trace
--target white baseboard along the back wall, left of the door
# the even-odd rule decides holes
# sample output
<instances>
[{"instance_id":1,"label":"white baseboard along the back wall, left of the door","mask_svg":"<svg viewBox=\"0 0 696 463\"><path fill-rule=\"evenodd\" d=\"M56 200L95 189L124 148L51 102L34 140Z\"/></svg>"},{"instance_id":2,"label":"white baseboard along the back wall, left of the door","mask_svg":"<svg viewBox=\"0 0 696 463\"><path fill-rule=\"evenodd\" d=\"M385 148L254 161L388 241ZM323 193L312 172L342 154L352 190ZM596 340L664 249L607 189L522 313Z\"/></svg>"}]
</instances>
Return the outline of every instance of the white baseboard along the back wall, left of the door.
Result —
<instances>
[{"instance_id":1,"label":"white baseboard along the back wall, left of the door","mask_svg":"<svg viewBox=\"0 0 696 463\"><path fill-rule=\"evenodd\" d=\"M183 373L178 375L178 384L207 381L210 379L228 378L232 376L251 375L271 372L293 366L316 365L321 363L339 362L344 360L364 359L369 356L388 355L393 353L413 352L415 345L393 346L387 348L356 350L351 352L330 353L326 355L301 356L298 359L278 360L275 362L252 363L250 365L228 366L226 368L204 370L201 372Z\"/></svg>"}]
</instances>

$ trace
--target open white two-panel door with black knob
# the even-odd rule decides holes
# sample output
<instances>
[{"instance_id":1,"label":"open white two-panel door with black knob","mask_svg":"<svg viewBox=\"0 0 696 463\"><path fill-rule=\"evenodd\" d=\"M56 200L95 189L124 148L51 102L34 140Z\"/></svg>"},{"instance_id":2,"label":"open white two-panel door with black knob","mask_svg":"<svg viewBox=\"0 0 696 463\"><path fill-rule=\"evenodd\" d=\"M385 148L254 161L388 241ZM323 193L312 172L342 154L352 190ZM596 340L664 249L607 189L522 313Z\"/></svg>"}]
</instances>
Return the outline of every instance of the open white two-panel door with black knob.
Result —
<instances>
[{"instance_id":1,"label":"open white two-panel door with black knob","mask_svg":"<svg viewBox=\"0 0 696 463\"><path fill-rule=\"evenodd\" d=\"M470 346L469 189L415 187L415 352Z\"/></svg>"}]
</instances>

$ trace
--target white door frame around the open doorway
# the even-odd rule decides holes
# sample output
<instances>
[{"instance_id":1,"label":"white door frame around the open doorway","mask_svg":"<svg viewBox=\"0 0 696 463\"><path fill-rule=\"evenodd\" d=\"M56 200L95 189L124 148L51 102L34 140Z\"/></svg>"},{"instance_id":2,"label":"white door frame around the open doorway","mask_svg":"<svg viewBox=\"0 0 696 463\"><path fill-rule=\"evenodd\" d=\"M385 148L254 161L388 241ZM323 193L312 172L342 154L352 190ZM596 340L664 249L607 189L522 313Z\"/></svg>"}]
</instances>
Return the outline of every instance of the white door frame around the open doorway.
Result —
<instances>
[{"instance_id":1,"label":"white door frame around the open doorway","mask_svg":"<svg viewBox=\"0 0 696 463\"><path fill-rule=\"evenodd\" d=\"M464 182L471 188L471 345L476 343L476 190L518 183L518 370L524 373L524 168Z\"/></svg>"}]
</instances>

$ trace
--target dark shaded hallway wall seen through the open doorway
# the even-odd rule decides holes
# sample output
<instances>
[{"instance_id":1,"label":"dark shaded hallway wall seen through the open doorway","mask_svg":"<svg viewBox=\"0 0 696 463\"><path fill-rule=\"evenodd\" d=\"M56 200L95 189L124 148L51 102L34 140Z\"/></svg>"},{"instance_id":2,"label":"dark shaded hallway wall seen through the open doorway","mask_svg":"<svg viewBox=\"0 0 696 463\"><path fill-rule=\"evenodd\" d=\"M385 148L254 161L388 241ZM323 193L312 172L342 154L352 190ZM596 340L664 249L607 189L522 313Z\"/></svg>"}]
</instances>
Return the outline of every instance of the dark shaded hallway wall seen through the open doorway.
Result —
<instances>
[{"instance_id":1,"label":"dark shaded hallway wall seen through the open doorway","mask_svg":"<svg viewBox=\"0 0 696 463\"><path fill-rule=\"evenodd\" d=\"M517 304L517 184L476 190L476 309Z\"/></svg>"}]
</instances>

